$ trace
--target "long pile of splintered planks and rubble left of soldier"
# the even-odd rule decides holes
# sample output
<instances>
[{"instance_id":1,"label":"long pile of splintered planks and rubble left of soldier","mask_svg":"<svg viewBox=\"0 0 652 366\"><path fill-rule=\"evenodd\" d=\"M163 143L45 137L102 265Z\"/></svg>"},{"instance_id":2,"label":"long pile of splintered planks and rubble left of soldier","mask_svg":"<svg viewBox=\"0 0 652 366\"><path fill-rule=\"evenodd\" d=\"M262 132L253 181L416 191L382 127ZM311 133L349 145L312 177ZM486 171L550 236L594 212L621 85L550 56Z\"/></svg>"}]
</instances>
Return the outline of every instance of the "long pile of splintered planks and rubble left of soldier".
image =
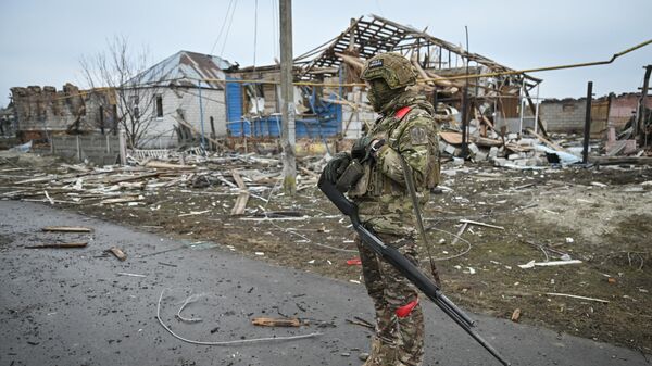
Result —
<instances>
[{"instance_id":1,"label":"long pile of splintered planks and rubble left of soldier","mask_svg":"<svg viewBox=\"0 0 652 366\"><path fill-rule=\"evenodd\" d=\"M0 157L0 199L135 206L145 204L148 195L172 188L215 186L224 188L224 194L247 192L247 198L261 198L258 194L278 187L281 180L278 159L253 153L204 156L168 151L158 152L155 159L145 155L133 152L128 161L134 165L95 167L84 163L61 163L48 169L21 164L20 156ZM298 164L301 174L297 176L297 190L314 187L318 177L315 172L323 166L323 159L304 157L298 160ZM231 214L243 214L246 206L244 199Z\"/></svg>"}]
</instances>

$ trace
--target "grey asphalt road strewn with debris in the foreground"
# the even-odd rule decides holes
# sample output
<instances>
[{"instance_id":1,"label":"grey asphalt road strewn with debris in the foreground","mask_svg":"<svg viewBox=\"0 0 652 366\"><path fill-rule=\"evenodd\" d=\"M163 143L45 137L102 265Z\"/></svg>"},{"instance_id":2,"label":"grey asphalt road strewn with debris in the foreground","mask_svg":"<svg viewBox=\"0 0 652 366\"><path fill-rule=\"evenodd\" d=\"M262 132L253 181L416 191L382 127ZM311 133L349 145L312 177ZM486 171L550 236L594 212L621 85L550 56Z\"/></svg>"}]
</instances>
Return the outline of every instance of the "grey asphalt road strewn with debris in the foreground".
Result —
<instances>
[{"instance_id":1,"label":"grey asphalt road strewn with debris in the foreground","mask_svg":"<svg viewBox=\"0 0 652 366\"><path fill-rule=\"evenodd\" d=\"M62 225L95 231L41 231L45 226ZM57 241L89 244L24 248ZM40 204L0 201L0 365L362 364L358 355L367 351L371 332L347 323L355 316L373 318L362 285L253 261L229 251L228 243L221 244L193 245ZM127 261L102 256L112 245L122 248ZM165 289L161 318L191 340L321 335L229 345L186 343L156 319ZM176 317L190 294L199 295L198 300L180 315L200 321ZM425 304L425 365L499 365L434 304ZM251 325L253 317L281 315L310 325ZM513 365L649 365L640 353L627 349L474 317L479 320L478 332Z\"/></svg>"}]
</instances>

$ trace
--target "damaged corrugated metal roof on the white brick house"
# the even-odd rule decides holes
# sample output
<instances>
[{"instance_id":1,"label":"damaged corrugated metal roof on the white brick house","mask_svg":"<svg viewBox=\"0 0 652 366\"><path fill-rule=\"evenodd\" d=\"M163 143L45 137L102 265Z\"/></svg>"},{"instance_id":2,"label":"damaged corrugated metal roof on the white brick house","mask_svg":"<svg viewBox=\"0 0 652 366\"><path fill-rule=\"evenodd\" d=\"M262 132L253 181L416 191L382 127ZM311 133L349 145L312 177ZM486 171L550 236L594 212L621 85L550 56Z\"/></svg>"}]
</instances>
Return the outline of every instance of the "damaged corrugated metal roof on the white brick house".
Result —
<instances>
[{"instance_id":1,"label":"damaged corrugated metal roof on the white brick house","mask_svg":"<svg viewBox=\"0 0 652 366\"><path fill-rule=\"evenodd\" d=\"M231 63L216 55L179 51L126 83L126 86L179 85L197 87L199 80L225 78ZM202 87L224 89L222 81L202 81Z\"/></svg>"}]
</instances>

